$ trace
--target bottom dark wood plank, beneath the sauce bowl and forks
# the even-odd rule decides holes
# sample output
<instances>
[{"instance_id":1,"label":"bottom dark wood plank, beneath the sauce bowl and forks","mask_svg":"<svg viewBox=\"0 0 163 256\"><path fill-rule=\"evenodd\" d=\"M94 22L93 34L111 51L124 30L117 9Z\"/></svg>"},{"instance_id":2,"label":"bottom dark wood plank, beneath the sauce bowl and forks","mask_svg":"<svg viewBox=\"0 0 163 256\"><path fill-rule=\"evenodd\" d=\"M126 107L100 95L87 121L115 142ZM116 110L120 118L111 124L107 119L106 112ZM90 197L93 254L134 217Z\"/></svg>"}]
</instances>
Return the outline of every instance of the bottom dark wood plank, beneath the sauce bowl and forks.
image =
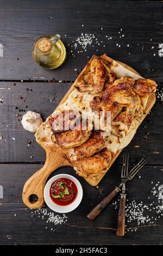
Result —
<instances>
[{"instance_id":1,"label":"bottom dark wood plank, beneath the sauce bowl and forks","mask_svg":"<svg viewBox=\"0 0 163 256\"><path fill-rule=\"evenodd\" d=\"M59 168L54 174L69 173L75 175L83 186L84 196L79 207L67 216L67 223L54 225L46 223L35 214L34 210L27 209L22 203L21 193L24 182L31 176L41 164L0 164L0 185L4 188L4 199L0 199L0 243L5 245L29 245L29 244L59 244L59 245L129 245L129 244L162 244L163 227L162 217L154 220L152 225L140 225L136 221L127 223L126 231L137 227L137 230L127 231L126 236L116 237L116 221L118 208L110 204L95 221L90 222L86 214L98 200L105 196L119 182L121 167L112 166L110 172L99 184L99 187L91 187L82 177L74 174L71 167ZM156 182L162 184L162 166L146 166L133 181L127 184L128 204L135 199L136 203L153 206L158 201L151 193ZM153 184L151 184L153 181ZM158 190L158 187L156 187ZM116 197L118 204L118 196ZM48 211L50 211L48 209ZM148 214L148 212L147 212ZM55 215L55 213L54 213ZM146 213L145 213L146 215ZM149 217L157 216L154 211L149 212ZM47 229L46 229L47 227ZM53 228L54 231L51 230Z\"/></svg>"}]
</instances>

